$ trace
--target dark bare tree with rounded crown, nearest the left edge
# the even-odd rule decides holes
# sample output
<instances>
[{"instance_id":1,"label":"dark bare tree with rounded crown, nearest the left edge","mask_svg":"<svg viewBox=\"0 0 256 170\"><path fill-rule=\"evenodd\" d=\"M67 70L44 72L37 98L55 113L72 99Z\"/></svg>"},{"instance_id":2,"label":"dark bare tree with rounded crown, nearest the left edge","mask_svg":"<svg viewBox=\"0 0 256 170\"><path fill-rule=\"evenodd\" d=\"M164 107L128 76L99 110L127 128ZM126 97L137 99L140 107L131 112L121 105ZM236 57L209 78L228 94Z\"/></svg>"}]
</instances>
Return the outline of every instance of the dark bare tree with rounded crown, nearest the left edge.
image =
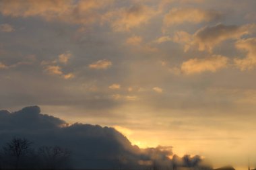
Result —
<instances>
[{"instance_id":1,"label":"dark bare tree with rounded crown, nearest the left edge","mask_svg":"<svg viewBox=\"0 0 256 170\"><path fill-rule=\"evenodd\" d=\"M30 153L31 144L32 142L26 138L13 137L5 144L5 146L3 146L3 153L5 153L5 155L14 157L14 162L11 164L15 166L15 169L19 168L20 159Z\"/></svg>"}]
</instances>

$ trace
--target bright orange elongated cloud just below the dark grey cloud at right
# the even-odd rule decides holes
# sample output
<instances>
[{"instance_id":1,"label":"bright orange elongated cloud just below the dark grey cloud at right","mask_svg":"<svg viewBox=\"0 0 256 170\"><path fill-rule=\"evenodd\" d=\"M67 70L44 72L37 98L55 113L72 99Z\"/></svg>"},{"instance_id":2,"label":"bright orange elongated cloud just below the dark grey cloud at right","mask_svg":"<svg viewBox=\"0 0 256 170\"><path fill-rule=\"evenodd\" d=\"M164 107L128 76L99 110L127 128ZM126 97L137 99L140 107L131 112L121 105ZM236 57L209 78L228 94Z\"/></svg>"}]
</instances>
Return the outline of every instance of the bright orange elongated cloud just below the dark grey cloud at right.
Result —
<instances>
[{"instance_id":1,"label":"bright orange elongated cloud just below the dark grey cloud at right","mask_svg":"<svg viewBox=\"0 0 256 170\"><path fill-rule=\"evenodd\" d=\"M226 56L213 55L208 58L193 58L183 62L181 65L181 72L186 75L195 73L202 73L205 71L216 72L219 69L223 69L228 64L228 58Z\"/></svg>"}]
</instances>

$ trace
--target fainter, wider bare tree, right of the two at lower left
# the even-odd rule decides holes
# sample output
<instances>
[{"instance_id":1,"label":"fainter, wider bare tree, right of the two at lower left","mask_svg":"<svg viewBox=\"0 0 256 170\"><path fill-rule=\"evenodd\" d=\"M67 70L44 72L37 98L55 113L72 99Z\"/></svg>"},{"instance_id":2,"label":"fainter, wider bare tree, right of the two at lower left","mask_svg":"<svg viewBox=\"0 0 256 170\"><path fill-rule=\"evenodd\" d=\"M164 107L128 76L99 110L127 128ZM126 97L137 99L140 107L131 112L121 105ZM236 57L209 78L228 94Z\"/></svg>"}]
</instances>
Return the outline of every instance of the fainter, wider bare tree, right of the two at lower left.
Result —
<instances>
[{"instance_id":1,"label":"fainter, wider bare tree, right of the two at lower left","mask_svg":"<svg viewBox=\"0 0 256 170\"><path fill-rule=\"evenodd\" d=\"M59 146L42 146L38 148L38 155L46 169L66 168L71 152Z\"/></svg>"}]
</instances>

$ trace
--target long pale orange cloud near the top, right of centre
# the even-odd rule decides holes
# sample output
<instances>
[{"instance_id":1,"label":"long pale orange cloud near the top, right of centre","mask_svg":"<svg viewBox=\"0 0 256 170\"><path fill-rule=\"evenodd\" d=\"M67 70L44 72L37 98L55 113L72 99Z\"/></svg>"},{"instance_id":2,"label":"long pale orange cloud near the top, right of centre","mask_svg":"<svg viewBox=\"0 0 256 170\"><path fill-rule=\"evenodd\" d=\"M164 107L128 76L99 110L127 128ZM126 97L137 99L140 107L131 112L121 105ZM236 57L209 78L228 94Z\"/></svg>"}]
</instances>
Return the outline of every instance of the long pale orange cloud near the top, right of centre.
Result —
<instances>
[{"instance_id":1,"label":"long pale orange cloud near the top, right of centre","mask_svg":"<svg viewBox=\"0 0 256 170\"><path fill-rule=\"evenodd\" d=\"M173 8L164 16L164 26L172 26L183 23L198 24L219 19L222 14L215 10L195 8Z\"/></svg>"}]
</instances>

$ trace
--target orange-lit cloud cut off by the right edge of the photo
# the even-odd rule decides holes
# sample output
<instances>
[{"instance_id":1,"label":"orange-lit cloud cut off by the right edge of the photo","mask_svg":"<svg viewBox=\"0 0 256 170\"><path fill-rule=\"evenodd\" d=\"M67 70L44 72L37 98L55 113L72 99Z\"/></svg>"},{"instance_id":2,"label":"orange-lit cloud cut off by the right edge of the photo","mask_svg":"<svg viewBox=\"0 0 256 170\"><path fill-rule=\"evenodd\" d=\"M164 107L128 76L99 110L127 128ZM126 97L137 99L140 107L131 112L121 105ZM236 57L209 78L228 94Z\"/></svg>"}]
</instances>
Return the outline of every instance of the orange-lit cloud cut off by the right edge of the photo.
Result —
<instances>
[{"instance_id":1,"label":"orange-lit cloud cut off by the right edge of the photo","mask_svg":"<svg viewBox=\"0 0 256 170\"><path fill-rule=\"evenodd\" d=\"M254 69L256 66L256 38L238 40L236 48L247 51L247 56L245 58L234 58L234 65L241 71Z\"/></svg>"}]
</instances>

